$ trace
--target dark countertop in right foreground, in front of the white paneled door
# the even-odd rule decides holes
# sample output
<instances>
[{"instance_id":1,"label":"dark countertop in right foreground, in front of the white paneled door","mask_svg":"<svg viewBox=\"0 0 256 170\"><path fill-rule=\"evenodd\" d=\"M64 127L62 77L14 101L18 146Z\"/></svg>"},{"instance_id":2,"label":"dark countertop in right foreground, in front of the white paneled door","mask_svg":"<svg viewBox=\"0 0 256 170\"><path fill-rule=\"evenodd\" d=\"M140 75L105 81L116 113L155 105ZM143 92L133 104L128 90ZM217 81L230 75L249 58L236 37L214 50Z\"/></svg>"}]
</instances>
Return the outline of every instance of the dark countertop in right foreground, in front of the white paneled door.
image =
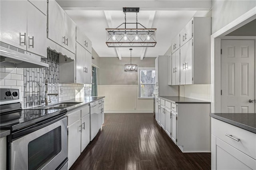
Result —
<instances>
[{"instance_id":1,"label":"dark countertop in right foreground, in front of the white paneled door","mask_svg":"<svg viewBox=\"0 0 256 170\"><path fill-rule=\"evenodd\" d=\"M256 133L256 113L211 113L210 116Z\"/></svg>"}]
</instances>

